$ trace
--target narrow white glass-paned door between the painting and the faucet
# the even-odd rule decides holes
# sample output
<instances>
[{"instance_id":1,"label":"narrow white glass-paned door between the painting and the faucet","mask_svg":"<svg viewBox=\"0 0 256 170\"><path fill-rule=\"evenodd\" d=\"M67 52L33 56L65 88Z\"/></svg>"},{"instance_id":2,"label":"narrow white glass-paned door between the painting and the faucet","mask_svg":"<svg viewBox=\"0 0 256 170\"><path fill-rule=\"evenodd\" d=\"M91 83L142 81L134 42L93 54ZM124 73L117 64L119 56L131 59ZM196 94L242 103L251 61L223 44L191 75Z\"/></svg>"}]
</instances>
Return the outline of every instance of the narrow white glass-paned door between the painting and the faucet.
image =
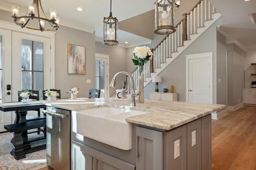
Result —
<instances>
[{"instance_id":1,"label":"narrow white glass-paned door between the painting and the faucet","mask_svg":"<svg viewBox=\"0 0 256 170\"><path fill-rule=\"evenodd\" d=\"M109 97L109 55L95 54L95 88L100 89L100 97Z\"/></svg>"}]
</instances>

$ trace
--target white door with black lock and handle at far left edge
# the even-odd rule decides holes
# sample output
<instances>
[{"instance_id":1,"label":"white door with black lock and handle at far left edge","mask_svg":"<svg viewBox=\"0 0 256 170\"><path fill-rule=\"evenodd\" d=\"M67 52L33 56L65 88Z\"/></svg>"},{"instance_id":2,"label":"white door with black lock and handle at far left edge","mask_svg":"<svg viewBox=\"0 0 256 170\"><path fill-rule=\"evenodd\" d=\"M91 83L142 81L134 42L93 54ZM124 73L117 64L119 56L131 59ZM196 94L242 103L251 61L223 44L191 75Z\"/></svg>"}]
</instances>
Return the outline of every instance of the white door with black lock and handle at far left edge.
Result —
<instances>
[{"instance_id":1,"label":"white door with black lock and handle at far left edge","mask_svg":"<svg viewBox=\"0 0 256 170\"><path fill-rule=\"evenodd\" d=\"M12 32L0 29L0 103L12 101ZM12 113L0 111L0 132L6 131L4 125L12 123Z\"/></svg>"}]
</instances>

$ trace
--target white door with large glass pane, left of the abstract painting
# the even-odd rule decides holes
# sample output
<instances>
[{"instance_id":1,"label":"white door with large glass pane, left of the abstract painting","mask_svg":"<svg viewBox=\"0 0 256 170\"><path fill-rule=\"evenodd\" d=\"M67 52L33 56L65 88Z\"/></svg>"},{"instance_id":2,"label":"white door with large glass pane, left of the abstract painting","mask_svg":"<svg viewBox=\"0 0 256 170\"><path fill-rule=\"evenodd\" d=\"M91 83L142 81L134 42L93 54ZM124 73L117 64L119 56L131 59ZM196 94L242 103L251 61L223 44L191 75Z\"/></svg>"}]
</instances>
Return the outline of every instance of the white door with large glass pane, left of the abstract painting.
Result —
<instances>
[{"instance_id":1,"label":"white door with large glass pane, left of the abstract painting","mask_svg":"<svg viewBox=\"0 0 256 170\"><path fill-rule=\"evenodd\" d=\"M12 101L19 90L50 88L50 39L12 33Z\"/></svg>"}]
</instances>

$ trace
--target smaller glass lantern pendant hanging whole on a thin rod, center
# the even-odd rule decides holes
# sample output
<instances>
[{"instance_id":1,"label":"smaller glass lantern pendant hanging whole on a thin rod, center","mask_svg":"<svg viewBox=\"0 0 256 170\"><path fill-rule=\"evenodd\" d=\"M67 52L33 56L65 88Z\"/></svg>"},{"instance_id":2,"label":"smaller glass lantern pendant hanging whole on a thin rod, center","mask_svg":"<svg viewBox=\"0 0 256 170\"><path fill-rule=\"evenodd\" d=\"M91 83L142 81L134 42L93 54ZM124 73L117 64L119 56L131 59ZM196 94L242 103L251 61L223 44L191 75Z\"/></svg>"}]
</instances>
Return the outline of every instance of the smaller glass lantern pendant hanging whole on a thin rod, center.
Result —
<instances>
[{"instance_id":1,"label":"smaller glass lantern pendant hanging whole on a thin rod, center","mask_svg":"<svg viewBox=\"0 0 256 170\"><path fill-rule=\"evenodd\" d=\"M118 19L112 16L110 0L110 14L109 17L104 17L104 45L118 45Z\"/></svg>"}]
</instances>

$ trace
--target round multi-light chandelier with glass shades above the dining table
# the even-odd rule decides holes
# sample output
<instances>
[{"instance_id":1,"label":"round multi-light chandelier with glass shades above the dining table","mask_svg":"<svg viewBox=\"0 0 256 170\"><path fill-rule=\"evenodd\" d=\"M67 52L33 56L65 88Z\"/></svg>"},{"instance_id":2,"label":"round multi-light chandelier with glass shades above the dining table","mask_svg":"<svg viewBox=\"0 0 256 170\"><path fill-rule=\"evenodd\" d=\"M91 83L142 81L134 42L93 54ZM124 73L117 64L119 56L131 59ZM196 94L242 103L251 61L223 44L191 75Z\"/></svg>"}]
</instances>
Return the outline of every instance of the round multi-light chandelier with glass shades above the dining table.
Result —
<instances>
[{"instance_id":1,"label":"round multi-light chandelier with glass shades above the dining table","mask_svg":"<svg viewBox=\"0 0 256 170\"><path fill-rule=\"evenodd\" d=\"M40 17L39 7L44 14L44 18ZM56 14L57 10L51 8L50 19L48 19L42 8L41 0L33 0L33 2L28 2L27 14L20 14L19 7L12 5L12 18L14 18L14 23L21 28L40 30L41 32L58 30L60 27L60 18L56 16ZM28 24L28 22L30 22L30 24ZM38 27L36 27L36 22L38 22Z\"/></svg>"}]
</instances>

